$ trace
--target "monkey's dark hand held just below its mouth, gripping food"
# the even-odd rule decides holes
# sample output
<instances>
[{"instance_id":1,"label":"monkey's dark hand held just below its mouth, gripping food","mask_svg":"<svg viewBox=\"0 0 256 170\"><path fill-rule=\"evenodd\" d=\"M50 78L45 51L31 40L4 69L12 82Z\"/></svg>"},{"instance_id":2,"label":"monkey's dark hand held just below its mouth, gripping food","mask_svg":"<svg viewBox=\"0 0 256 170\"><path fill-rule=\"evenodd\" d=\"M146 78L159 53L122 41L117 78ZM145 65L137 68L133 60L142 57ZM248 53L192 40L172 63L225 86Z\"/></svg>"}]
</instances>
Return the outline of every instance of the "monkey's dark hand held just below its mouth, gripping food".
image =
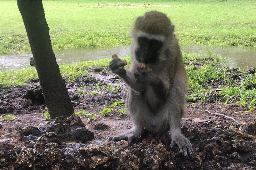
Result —
<instances>
[{"instance_id":1,"label":"monkey's dark hand held just below its mouth, gripping food","mask_svg":"<svg viewBox=\"0 0 256 170\"><path fill-rule=\"evenodd\" d=\"M136 78L137 82L147 83L155 77L155 74L151 68L142 69L138 67L138 71L134 73L134 77Z\"/></svg>"}]
</instances>

